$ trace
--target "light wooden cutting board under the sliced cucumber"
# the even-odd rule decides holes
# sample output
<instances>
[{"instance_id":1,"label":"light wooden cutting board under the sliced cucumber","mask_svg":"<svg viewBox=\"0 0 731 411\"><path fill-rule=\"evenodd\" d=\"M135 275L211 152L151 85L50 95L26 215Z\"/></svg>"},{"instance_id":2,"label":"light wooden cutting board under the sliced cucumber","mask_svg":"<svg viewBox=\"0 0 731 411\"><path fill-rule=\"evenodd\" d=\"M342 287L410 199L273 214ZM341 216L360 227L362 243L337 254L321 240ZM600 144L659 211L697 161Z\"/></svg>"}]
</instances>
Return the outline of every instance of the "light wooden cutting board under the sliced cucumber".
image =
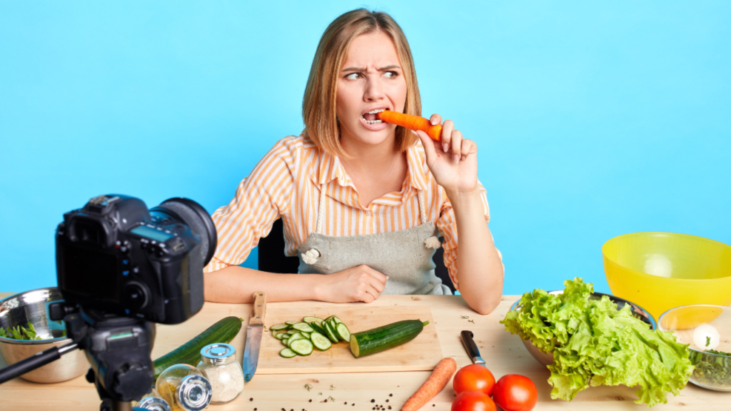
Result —
<instances>
[{"instance_id":1,"label":"light wooden cutting board under the sliced cucumber","mask_svg":"<svg viewBox=\"0 0 731 411\"><path fill-rule=\"evenodd\" d=\"M347 342L333 344L330 350L314 349L311 355L284 358L279 355L284 345L272 336L269 327L285 321L301 321L302 317L327 318L337 315L351 333L366 331L401 320L422 320L429 324L415 339L406 344L378 352L366 357L355 358ZM425 306L357 306L323 307L313 309L297 306L267 307L267 326L262 335L257 374L305 374L322 372L385 372L385 371L431 371L442 359L442 347L436 335L431 309Z\"/></svg>"}]
</instances>

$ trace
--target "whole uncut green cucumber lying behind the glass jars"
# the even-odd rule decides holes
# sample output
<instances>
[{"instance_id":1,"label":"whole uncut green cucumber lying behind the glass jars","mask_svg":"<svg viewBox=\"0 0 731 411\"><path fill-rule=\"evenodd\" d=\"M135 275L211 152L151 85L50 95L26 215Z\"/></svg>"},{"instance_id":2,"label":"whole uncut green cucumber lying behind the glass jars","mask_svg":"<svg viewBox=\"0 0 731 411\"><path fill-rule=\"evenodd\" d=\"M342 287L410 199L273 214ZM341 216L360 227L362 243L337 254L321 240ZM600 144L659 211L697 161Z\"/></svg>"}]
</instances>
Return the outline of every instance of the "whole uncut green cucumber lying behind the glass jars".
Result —
<instances>
[{"instance_id":1,"label":"whole uncut green cucumber lying behind the glass jars","mask_svg":"<svg viewBox=\"0 0 731 411\"><path fill-rule=\"evenodd\" d=\"M164 372L167 367L175 364L189 364L197 366L200 362L200 350L208 344L216 342L229 343L241 330L242 318L226 317L211 325L202 333L195 336L189 342L181 345L173 351L168 352L154 361L155 380Z\"/></svg>"}]
</instances>

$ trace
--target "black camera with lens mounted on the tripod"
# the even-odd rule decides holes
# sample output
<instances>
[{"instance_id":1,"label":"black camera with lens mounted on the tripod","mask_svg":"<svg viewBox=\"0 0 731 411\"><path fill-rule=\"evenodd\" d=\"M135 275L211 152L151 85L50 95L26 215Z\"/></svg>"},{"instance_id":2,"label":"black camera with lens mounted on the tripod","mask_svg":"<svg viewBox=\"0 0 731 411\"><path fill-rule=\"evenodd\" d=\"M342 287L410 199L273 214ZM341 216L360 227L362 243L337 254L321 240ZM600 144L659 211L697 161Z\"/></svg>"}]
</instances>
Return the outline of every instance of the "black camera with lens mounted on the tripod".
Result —
<instances>
[{"instance_id":1,"label":"black camera with lens mounted on the tripod","mask_svg":"<svg viewBox=\"0 0 731 411\"><path fill-rule=\"evenodd\" d=\"M135 197L100 195L56 229L58 287L70 305L182 323L203 306L202 268L216 241L211 217L193 200L148 210Z\"/></svg>"}]
</instances>

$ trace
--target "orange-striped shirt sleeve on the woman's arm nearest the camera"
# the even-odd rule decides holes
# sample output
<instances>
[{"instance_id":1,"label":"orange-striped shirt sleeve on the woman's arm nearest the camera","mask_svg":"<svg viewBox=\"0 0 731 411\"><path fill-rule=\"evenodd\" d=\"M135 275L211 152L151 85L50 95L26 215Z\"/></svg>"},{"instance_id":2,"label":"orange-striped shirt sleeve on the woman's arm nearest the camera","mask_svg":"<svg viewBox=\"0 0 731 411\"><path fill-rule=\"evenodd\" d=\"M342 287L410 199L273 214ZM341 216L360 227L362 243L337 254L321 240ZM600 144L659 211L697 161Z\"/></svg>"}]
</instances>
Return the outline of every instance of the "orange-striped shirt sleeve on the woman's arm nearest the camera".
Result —
<instances>
[{"instance_id":1,"label":"orange-striped shirt sleeve on the woman's arm nearest the camera","mask_svg":"<svg viewBox=\"0 0 731 411\"><path fill-rule=\"evenodd\" d=\"M292 153L287 139L280 140L240 182L231 202L216 210L218 246L203 272L243 263L272 223L287 212L292 197Z\"/></svg>"}]
</instances>

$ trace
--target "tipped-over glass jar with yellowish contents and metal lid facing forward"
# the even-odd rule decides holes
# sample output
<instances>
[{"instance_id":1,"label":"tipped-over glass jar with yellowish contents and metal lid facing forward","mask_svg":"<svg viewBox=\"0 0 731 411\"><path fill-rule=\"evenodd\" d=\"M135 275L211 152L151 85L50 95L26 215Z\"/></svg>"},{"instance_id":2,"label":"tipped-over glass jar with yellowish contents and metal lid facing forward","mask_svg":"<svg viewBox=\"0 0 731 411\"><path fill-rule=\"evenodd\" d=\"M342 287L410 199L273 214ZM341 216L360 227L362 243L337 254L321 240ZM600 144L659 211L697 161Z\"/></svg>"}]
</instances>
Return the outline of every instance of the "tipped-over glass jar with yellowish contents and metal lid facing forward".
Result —
<instances>
[{"instance_id":1,"label":"tipped-over glass jar with yellowish contents and metal lid facing forward","mask_svg":"<svg viewBox=\"0 0 731 411\"><path fill-rule=\"evenodd\" d=\"M211 383L188 364L168 367L157 377L155 389L173 411L200 411L211 402Z\"/></svg>"}]
</instances>

